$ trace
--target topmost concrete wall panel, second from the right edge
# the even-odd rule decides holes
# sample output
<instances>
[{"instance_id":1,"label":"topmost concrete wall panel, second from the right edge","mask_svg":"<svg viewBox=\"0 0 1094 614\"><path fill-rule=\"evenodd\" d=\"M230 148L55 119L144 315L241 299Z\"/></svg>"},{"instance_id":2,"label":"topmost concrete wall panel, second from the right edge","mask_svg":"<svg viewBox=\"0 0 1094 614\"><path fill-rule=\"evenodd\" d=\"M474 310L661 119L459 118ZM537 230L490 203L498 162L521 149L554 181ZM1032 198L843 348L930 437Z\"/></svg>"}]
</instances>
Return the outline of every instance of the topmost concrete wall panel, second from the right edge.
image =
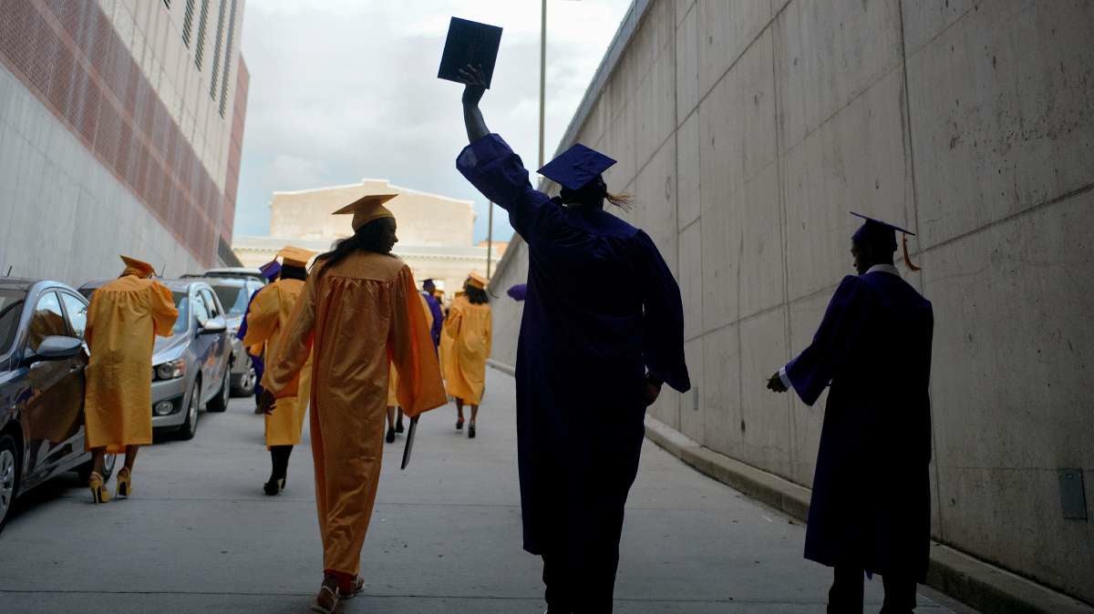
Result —
<instances>
[{"instance_id":1,"label":"topmost concrete wall panel, second from the right edge","mask_svg":"<svg viewBox=\"0 0 1094 614\"><path fill-rule=\"evenodd\" d=\"M795 0L776 27L784 150L900 63L897 0Z\"/></svg>"}]
</instances>

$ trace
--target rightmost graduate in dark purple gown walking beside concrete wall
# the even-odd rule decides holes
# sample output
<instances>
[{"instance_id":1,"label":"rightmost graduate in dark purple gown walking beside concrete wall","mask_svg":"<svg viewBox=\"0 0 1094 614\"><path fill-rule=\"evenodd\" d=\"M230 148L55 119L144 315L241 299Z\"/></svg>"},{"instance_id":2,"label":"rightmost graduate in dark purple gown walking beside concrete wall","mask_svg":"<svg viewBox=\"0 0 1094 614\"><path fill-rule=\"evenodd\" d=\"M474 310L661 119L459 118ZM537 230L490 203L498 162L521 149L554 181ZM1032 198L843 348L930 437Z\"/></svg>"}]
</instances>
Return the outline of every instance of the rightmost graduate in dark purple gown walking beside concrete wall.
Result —
<instances>
[{"instance_id":1,"label":"rightmost graduate in dark purple gown walking beside concrete wall","mask_svg":"<svg viewBox=\"0 0 1094 614\"><path fill-rule=\"evenodd\" d=\"M862 612L868 572L881 574L882 612L894 614L916 607L927 575L934 318L893 265L896 231L911 233L865 220L851 239L859 274L843 278L813 343L768 388L813 405L831 387L805 532L805 558L835 568L828 612Z\"/></svg>"}]
</instances>

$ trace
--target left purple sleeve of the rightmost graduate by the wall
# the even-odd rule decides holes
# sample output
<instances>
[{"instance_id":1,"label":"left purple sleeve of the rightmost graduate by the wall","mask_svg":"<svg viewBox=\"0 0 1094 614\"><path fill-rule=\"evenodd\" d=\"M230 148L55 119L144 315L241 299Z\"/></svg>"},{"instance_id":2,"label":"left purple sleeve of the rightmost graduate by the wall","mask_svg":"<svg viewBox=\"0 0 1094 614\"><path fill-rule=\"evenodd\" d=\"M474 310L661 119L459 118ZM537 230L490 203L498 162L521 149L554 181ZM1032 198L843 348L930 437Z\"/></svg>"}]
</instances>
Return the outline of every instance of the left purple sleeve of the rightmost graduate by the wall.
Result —
<instances>
[{"instance_id":1,"label":"left purple sleeve of the rightmost graduate by the wall","mask_svg":"<svg viewBox=\"0 0 1094 614\"><path fill-rule=\"evenodd\" d=\"M854 347L862 321L863 292L859 278L843 278L813 342L787 364L787 377L806 405L816 403Z\"/></svg>"}]
</instances>

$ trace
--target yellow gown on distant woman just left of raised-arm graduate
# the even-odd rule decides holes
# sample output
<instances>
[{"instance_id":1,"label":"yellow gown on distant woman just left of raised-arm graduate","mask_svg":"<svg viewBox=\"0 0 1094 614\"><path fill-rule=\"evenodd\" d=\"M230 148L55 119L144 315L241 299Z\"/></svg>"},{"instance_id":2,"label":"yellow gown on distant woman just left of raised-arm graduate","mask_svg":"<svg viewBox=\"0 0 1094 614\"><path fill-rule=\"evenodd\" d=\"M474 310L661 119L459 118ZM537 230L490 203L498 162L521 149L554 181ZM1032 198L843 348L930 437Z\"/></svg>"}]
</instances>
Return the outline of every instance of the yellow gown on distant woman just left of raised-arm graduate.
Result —
<instances>
[{"instance_id":1,"label":"yellow gown on distant woman just left of raised-arm graduate","mask_svg":"<svg viewBox=\"0 0 1094 614\"><path fill-rule=\"evenodd\" d=\"M486 359L490 356L490 306L461 297L452 303L444 321L444 381L449 394L478 405L486 388Z\"/></svg>"}]
</instances>

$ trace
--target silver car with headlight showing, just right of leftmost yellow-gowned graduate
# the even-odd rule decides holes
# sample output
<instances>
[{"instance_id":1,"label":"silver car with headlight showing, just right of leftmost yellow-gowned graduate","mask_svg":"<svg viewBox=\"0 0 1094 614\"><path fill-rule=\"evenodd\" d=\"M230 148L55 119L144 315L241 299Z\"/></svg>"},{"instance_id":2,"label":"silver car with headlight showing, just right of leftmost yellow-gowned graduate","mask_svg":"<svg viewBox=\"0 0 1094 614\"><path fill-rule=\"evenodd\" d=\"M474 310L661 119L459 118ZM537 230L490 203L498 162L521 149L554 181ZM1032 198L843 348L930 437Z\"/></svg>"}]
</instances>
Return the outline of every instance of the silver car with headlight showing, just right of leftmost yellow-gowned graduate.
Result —
<instances>
[{"instance_id":1,"label":"silver car with headlight showing, just right of leftmost yellow-gowned graduate","mask_svg":"<svg viewBox=\"0 0 1094 614\"><path fill-rule=\"evenodd\" d=\"M156 336L152 350L152 428L191 439L202 409L228 409L232 343L224 309L208 283L159 281L174 296L178 319L171 336ZM90 298L105 283L89 282L80 292Z\"/></svg>"}]
</instances>

